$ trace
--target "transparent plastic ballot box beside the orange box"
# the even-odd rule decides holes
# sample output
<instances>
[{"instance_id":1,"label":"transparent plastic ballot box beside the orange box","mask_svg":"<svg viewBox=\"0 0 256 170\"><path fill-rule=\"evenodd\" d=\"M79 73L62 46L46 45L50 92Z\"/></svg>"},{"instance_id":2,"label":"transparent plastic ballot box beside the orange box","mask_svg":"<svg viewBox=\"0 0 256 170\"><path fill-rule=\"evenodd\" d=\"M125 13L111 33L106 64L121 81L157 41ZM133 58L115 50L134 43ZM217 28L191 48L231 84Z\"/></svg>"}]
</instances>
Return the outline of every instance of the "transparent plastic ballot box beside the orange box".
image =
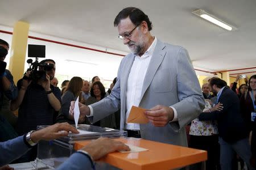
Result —
<instances>
[{"instance_id":1,"label":"transparent plastic ballot box beside the orange box","mask_svg":"<svg viewBox=\"0 0 256 170\"><path fill-rule=\"evenodd\" d=\"M46 126L38 126L38 129ZM40 141L38 143L38 155L36 158L36 169L55 169L75 152L75 142L100 137L125 138L127 132L122 130L101 128L92 125L78 125L79 134L70 133L67 137L53 141Z\"/></svg>"}]
</instances>

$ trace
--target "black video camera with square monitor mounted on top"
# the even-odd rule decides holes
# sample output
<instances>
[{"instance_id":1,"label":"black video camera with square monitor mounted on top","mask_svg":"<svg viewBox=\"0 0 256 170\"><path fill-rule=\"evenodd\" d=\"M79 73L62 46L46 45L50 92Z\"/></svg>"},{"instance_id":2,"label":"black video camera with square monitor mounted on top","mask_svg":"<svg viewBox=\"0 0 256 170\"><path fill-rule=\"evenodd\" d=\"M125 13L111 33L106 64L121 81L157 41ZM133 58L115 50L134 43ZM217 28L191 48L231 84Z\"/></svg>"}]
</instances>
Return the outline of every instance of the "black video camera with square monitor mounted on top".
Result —
<instances>
[{"instance_id":1,"label":"black video camera with square monitor mounted on top","mask_svg":"<svg viewBox=\"0 0 256 170\"><path fill-rule=\"evenodd\" d=\"M28 44L28 57L35 58L35 62L33 62L32 59L27 59L27 63L30 66L27 69L27 71L31 71L28 79L34 82L38 82L38 80L40 79L46 80L46 71L52 70L54 68L54 65L51 63L38 62L38 57L40 58L46 57L46 46Z\"/></svg>"}]
</instances>

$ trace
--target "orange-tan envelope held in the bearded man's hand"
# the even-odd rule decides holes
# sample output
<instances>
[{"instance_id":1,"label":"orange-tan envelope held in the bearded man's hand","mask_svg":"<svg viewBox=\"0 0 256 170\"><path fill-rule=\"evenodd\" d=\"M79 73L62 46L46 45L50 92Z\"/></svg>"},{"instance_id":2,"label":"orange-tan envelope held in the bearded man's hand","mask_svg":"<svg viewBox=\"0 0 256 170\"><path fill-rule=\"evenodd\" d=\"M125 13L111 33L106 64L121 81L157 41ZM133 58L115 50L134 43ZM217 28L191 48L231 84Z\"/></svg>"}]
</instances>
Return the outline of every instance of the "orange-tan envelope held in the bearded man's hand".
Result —
<instances>
[{"instance_id":1,"label":"orange-tan envelope held in the bearded man's hand","mask_svg":"<svg viewBox=\"0 0 256 170\"><path fill-rule=\"evenodd\" d=\"M128 123L137 123L137 124L147 124L148 119L144 115L144 111L146 111L146 109L135 107L133 105L133 107L131 107L129 117L127 118L127 122Z\"/></svg>"}]
</instances>

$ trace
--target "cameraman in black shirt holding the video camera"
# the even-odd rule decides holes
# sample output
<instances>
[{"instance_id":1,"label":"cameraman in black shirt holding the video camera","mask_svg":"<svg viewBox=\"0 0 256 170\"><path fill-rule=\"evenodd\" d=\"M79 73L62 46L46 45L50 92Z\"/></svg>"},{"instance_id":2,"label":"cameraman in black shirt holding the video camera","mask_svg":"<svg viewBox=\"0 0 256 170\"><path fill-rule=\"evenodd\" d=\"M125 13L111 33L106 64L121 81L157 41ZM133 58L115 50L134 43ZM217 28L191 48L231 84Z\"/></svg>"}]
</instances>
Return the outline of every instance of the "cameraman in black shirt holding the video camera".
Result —
<instances>
[{"instance_id":1,"label":"cameraman in black shirt holding the video camera","mask_svg":"<svg viewBox=\"0 0 256 170\"><path fill-rule=\"evenodd\" d=\"M18 81L18 97L11 102L11 110L19 108L19 135L38 125L52 125L61 107L60 89L50 83L55 76L55 61L44 59L38 63L38 68L39 71L27 71ZM36 148L31 152L25 161L35 159Z\"/></svg>"}]
</instances>

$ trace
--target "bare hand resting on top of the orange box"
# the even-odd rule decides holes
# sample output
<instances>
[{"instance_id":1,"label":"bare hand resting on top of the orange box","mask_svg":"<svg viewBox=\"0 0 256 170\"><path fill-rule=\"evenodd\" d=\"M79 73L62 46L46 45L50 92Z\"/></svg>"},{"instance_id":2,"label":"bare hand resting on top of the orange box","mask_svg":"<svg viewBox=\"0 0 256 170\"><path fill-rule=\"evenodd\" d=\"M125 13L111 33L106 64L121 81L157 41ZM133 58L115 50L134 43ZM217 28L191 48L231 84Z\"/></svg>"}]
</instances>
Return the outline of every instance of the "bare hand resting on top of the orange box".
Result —
<instances>
[{"instance_id":1,"label":"bare hand resting on top of the orange box","mask_svg":"<svg viewBox=\"0 0 256 170\"><path fill-rule=\"evenodd\" d=\"M85 147L81 148L81 150L88 152L93 160L98 160L110 152L121 150L130 151L130 148L122 142L114 141L113 139L98 138L97 140L92 141Z\"/></svg>"}]
</instances>

